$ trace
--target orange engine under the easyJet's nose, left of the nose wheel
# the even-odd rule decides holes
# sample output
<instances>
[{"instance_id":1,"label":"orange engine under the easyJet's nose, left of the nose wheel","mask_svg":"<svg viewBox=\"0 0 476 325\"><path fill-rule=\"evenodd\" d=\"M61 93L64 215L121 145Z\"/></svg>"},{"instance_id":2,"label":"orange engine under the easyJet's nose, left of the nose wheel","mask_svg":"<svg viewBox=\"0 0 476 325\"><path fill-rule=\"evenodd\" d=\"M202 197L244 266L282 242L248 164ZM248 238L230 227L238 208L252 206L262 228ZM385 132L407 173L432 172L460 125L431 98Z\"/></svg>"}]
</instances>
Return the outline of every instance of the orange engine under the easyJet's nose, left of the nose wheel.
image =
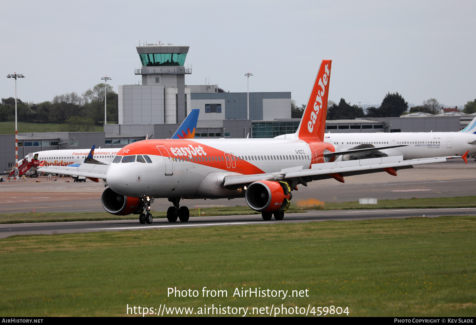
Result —
<instances>
[{"instance_id":1,"label":"orange engine under the easyJet's nose, left of the nose wheel","mask_svg":"<svg viewBox=\"0 0 476 325\"><path fill-rule=\"evenodd\" d=\"M101 203L104 210L116 216L125 216L131 213L140 214L144 209L144 204L139 198L120 195L109 187L102 192Z\"/></svg>"}]
</instances>

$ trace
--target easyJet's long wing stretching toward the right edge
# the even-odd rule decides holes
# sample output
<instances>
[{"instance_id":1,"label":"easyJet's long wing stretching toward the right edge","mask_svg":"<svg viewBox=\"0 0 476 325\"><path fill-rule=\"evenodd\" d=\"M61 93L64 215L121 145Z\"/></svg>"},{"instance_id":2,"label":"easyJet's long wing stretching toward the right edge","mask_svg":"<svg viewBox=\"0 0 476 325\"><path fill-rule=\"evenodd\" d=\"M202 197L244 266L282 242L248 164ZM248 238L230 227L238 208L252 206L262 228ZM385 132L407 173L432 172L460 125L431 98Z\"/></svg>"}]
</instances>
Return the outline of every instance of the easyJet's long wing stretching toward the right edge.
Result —
<instances>
[{"instance_id":1,"label":"easyJet's long wing stretching toward the right edge","mask_svg":"<svg viewBox=\"0 0 476 325\"><path fill-rule=\"evenodd\" d=\"M344 182L344 177L368 174L373 172L388 172L397 175L397 170L413 168L414 165L421 165L434 162L446 162L449 158L462 158L460 156L433 157L404 160L403 156L391 156L381 158L369 158L360 160L350 160L343 162L315 163L309 169L289 168L281 172L254 174L254 175L232 175L225 176L224 186L229 189L237 189L248 186L257 181L278 181L289 180L292 187L297 184L307 186L307 182L334 178L339 182ZM464 155L466 158L466 155Z\"/></svg>"}]
</instances>

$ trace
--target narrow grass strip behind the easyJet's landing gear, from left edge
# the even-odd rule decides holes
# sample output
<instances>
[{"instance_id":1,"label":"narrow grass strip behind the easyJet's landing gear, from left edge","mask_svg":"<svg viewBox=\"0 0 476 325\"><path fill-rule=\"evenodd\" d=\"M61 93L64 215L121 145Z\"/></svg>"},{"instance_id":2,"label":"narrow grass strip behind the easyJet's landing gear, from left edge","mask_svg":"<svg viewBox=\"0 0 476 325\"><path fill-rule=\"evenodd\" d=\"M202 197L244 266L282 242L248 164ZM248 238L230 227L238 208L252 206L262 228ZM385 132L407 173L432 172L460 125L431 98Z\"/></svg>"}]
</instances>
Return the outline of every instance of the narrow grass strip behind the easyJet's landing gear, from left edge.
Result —
<instances>
[{"instance_id":1,"label":"narrow grass strip behind the easyJet's landing gear, from left edge","mask_svg":"<svg viewBox=\"0 0 476 325\"><path fill-rule=\"evenodd\" d=\"M190 217L198 217L197 209L190 209ZM249 207L213 207L200 209L200 216L242 216L261 214ZM304 210L290 208L286 213L300 213ZM166 211L151 211L154 218L167 218ZM0 224L30 223L30 222L62 222L62 221L99 221L99 220L135 220L139 215L114 216L108 212L66 212L66 213L3 213L0 214Z\"/></svg>"}]
</instances>

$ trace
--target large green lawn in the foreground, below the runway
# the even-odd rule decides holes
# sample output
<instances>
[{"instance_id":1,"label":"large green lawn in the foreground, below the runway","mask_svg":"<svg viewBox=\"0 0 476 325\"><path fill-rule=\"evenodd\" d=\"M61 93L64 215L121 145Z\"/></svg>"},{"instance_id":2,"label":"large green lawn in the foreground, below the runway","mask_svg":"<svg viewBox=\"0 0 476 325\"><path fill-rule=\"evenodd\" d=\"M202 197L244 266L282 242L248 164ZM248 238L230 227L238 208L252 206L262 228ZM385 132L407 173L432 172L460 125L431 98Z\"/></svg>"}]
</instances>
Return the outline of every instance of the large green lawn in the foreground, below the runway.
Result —
<instances>
[{"instance_id":1,"label":"large green lawn in the foreground, below the runway","mask_svg":"<svg viewBox=\"0 0 476 325\"><path fill-rule=\"evenodd\" d=\"M347 307L474 316L476 217L280 223L0 239L0 315L116 316L126 305ZM168 287L200 296L167 296ZM202 287L228 297L201 297ZM308 297L232 297L236 288ZM289 291L290 293L291 291ZM165 314L164 314L165 315Z\"/></svg>"}]
</instances>

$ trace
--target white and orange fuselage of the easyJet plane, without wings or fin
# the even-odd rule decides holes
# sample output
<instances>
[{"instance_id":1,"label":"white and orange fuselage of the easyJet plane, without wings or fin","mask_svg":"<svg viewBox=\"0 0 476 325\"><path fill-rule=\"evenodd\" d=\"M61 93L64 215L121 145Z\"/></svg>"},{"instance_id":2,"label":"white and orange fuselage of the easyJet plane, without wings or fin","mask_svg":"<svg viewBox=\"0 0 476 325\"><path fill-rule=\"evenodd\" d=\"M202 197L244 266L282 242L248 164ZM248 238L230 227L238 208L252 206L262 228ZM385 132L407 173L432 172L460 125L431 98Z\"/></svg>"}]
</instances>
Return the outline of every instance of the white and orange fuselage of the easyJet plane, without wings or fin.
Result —
<instances>
[{"instance_id":1,"label":"white and orange fuselage of the easyJet plane, without wings or fin","mask_svg":"<svg viewBox=\"0 0 476 325\"><path fill-rule=\"evenodd\" d=\"M106 176L113 191L130 197L234 198L244 191L224 188L225 176L307 169L323 162L324 149L335 150L299 139L140 141L119 150Z\"/></svg>"}]
</instances>

